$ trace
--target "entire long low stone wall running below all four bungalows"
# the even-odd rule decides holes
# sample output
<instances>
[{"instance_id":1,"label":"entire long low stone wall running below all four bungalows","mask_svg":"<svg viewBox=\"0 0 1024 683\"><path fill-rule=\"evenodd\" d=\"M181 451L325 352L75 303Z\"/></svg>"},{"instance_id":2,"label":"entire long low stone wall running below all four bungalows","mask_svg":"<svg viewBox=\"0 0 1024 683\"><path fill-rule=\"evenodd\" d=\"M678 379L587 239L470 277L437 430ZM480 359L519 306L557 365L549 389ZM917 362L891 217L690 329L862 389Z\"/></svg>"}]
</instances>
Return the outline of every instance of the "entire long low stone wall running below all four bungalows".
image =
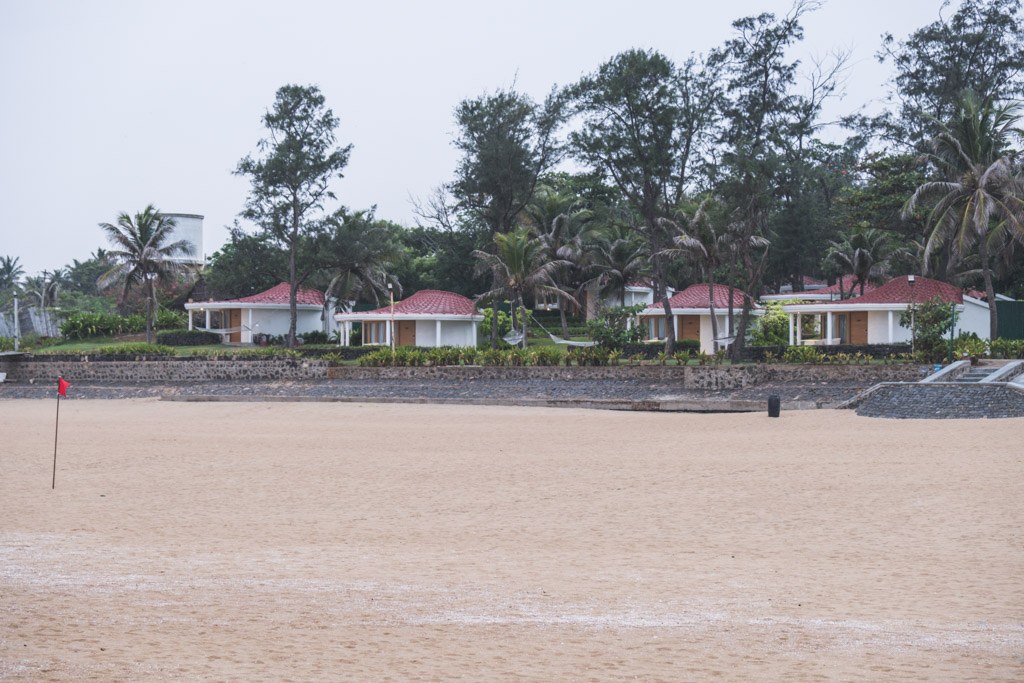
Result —
<instances>
[{"instance_id":1,"label":"entire long low stone wall running below all four bungalows","mask_svg":"<svg viewBox=\"0 0 1024 683\"><path fill-rule=\"evenodd\" d=\"M119 384L210 382L222 380L388 380L388 379L535 379L650 380L678 382L684 389L741 389L764 382L914 382L924 377L916 365L894 366L609 366L585 368L444 368L329 367L326 360L281 357L178 357L94 360L88 356L19 356L0 361L13 382L50 382L58 375L79 382Z\"/></svg>"}]
</instances>

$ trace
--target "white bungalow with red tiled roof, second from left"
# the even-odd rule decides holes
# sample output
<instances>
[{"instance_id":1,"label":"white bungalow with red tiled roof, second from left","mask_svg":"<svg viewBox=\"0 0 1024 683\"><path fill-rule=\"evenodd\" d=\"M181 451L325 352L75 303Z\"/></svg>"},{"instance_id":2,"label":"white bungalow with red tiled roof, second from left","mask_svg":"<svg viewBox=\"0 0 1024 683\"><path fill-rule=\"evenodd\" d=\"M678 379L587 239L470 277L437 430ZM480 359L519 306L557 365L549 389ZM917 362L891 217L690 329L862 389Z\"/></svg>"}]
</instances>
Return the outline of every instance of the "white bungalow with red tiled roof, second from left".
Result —
<instances>
[{"instance_id":1,"label":"white bungalow with red tiled roof, second from left","mask_svg":"<svg viewBox=\"0 0 1024 683\"><path fill-rule=\"evenodd\" d=\"M454 292L423 290L377 310L337 313L342 344L347 345L354 323L362 324L362 345L476 346L476 330L483 314L476 304Z\"/></svg>"}]
</instances>

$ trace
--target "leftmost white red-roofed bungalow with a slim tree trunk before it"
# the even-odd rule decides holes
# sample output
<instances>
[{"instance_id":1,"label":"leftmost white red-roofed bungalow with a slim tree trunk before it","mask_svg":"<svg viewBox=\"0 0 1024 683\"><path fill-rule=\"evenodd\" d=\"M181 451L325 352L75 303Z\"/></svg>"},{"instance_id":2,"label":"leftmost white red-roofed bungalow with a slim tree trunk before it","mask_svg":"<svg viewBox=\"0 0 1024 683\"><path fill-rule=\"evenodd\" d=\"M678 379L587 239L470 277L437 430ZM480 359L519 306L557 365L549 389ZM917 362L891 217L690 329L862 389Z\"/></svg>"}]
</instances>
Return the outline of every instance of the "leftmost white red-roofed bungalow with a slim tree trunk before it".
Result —
<instances>
[{"instance_id":1,"label":"leftmost white red-roofed bungalow with a slim tree trunk before it","mask_svg":"<svg viewBox=\"0 0 1024 683\"><path fill-rule=\"evenodd\" d=\"M225 301L189 301L185 304L188 312L188 329L206 330L223 335L227 343L251 344L256 335L286 335L291 322L289 307L290 287L288 283L268 289L259 294L227 299ZM194 313L203 316L204 325L196 327ZM219 313L219 327L211 327L213 314ZM325 330L324 293L316 290L299 289L296 292L295 332L330 332ZM332 326L333 327L333 326ZM334 328L333 329L337 329Z\"/></svg>"}]
</instances>

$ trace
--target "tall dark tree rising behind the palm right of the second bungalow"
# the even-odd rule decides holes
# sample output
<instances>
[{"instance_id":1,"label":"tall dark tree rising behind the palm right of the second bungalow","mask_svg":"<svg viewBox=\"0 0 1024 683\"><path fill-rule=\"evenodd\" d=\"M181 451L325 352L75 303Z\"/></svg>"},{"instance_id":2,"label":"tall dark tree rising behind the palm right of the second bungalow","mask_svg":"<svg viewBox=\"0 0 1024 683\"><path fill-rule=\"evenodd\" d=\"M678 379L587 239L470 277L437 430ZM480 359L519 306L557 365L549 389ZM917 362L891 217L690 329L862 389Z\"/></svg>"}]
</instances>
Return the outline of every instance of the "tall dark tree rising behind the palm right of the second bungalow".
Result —
<instances>
[{"instance_id":1,"label":"tall dark tree rising behind the palm right of the second bungalow","mask_svg":"<svg viewBox=\"0 0 1024 683\"><path fill-rule=\"evenodd\" d=\"M462 159L446 188L456 211L486 226L492 238L511 230L538 179L561 156L556 138L561 111L554 93L538 104L511 88L460 102L455 146ZM498 345L497 302L490 343Z\"/></svg>"}]
</instances>

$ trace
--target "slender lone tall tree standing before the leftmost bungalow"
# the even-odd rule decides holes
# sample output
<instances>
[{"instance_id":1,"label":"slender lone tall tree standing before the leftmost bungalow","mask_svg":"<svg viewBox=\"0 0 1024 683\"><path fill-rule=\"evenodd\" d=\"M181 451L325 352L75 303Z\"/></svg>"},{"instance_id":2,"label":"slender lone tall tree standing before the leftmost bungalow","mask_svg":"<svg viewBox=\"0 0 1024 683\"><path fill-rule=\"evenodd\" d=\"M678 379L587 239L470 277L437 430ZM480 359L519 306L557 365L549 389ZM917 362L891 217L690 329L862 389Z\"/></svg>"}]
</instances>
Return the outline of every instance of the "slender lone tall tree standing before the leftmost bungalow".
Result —
<instances>
[{"instance_id":1,"label":"slender lone tall tree standing before the leftmost bungalow","mask_svg":"<svg viewBox=\"0 0 1024 683\"><path fill-rule=\"evenodd\" d=\"M331 183L343 177L352 150L336 145L338 119L325 102L316 86L280 88L263 115L267 136L257 145L258 156L247 156L234 171L252 183L242 215L288 252L289 346L296 344L296 292L314 270L300 264L298 255L322 232L324 202L336 199Z\"/></svg>"}]
</instances>

